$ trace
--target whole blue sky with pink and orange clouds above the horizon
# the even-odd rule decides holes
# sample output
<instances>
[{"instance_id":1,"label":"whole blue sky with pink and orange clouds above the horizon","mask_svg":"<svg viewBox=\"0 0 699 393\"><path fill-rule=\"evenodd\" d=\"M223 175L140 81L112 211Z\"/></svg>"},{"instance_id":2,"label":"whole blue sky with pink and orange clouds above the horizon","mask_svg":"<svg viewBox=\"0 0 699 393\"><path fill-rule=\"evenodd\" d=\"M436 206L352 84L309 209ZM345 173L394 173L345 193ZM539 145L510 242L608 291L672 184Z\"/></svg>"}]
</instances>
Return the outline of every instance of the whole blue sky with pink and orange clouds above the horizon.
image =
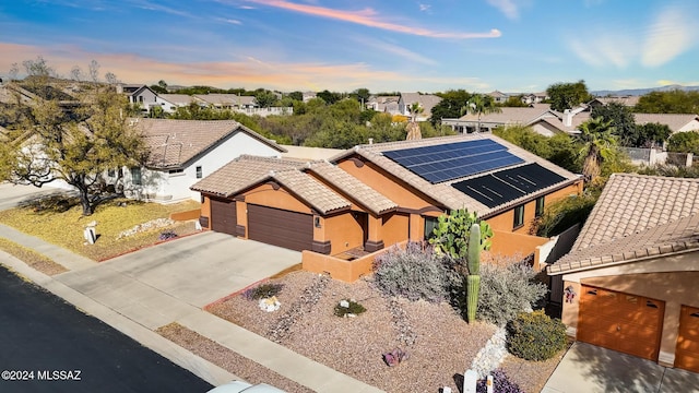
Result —
<instances>
[{"instance_id":1,"label":"whole blue sky with pink and orange clouds above the horizon","mask_svg":"<svg viewBox=\"0 0 699 393\"><path fill-rule=\"evenodd\" d=\"M699 1L12 0L0 76L44 57L126 83L282 92L699 85Z\"/></svg>"}]
</instances>

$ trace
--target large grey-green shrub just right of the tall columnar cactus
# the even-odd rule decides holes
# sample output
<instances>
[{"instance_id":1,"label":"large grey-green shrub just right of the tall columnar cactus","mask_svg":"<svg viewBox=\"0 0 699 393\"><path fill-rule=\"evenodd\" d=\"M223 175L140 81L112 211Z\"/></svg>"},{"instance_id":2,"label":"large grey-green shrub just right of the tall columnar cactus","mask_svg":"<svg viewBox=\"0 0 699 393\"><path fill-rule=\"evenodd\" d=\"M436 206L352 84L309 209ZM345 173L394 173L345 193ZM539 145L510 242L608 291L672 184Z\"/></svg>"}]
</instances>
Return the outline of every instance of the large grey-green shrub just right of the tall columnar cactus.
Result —
<instances>
[{"instance_id":1,"label":"large grey-green shrub just right of the tall columnar cactus","mask_svg":"<svg viewBox=\"0 0 699 393\"><path fill-rule=\"evenodd\" d=\"M526 262L494 261L481 264L477 318L503 326L530 311L547 293Z\"/></svg>"}]
</instances>

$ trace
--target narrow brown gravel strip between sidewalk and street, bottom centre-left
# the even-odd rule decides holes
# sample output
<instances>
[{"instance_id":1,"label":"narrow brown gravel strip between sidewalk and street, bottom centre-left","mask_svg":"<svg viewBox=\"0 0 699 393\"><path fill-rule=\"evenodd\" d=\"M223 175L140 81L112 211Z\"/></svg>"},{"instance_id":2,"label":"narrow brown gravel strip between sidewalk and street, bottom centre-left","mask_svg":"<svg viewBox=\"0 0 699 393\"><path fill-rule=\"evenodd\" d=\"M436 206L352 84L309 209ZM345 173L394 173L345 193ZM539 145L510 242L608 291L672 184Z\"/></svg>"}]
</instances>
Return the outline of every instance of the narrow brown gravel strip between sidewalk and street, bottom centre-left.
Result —
<instances>
[{"instance_id":1,"label":"narrow brown gravel strip between sidewalk and street, bottom centre-left","mask_svg":"<svg viewBox=\"0 0 699 393\"><path fill-rule=\"evenodd\" d=\"M201 334L191 331L179 323L173 322L159 327L156 333L173 343L190 350L212 364L240 377L249 383L269 383L289 393L308 393L312 390L303 386L288 378L259 365L242 355L213 342Z\"/></svg>"}]
</instances>

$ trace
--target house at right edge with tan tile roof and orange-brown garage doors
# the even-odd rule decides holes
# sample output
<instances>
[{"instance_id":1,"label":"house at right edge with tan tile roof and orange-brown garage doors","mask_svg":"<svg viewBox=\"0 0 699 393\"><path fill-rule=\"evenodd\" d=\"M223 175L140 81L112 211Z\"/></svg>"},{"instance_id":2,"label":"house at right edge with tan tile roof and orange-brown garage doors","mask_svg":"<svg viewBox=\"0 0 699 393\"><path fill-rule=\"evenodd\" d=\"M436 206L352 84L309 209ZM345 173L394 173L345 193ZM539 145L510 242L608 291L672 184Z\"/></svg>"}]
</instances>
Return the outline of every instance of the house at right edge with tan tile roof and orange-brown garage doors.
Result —
<instances>
[{"instance_id":1,"label":"house at right edge with tan tile roof and orange-brown garage doors","mask_svg":"<svg viewBox=\"0 0 699 393\"><path fill-rule=\"evenodd\" d=\"M699 179L609 178L572 250L547 267L570 335L699 372L697 201Z\"/></svg>"}]
</instances>

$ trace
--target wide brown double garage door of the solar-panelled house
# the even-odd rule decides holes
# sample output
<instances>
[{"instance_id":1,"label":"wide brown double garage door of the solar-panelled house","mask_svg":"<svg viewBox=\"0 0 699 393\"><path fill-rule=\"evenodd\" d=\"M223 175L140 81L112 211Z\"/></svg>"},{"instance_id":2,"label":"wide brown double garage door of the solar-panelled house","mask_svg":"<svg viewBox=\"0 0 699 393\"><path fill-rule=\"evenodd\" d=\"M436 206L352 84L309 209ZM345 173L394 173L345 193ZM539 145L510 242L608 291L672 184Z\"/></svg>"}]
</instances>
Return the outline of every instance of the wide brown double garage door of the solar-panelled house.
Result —
<instances>
[{"instance_id":1,"label":"wide brown double garage door of the solar-panelled house","mask_svg":"<svg viewBox=\"0 0 699 393\"><path fill-rule=\"evenodd\" d=\"M248 204L248 238L291 250L310 250L313 216Z\"/></svg>"}]
</instances>

